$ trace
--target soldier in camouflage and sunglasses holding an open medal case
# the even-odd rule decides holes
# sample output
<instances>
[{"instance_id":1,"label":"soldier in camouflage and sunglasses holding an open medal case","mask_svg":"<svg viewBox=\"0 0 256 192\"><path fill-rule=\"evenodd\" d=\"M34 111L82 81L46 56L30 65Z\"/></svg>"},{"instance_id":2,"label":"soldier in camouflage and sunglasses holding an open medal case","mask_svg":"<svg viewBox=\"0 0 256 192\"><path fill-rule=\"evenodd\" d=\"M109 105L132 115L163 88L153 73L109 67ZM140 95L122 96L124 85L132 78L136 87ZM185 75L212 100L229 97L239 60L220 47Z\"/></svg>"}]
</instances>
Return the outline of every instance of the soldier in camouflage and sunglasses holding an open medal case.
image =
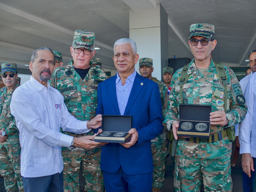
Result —
<instances>
[{"instance_id":1,"label":"soldier in camouflage and sunglasses holding an open medal case","mask_svg":"<svg viewBox=\"0 0 256 192\"><path fill-rule=\"evenodd\" d=\"M178 138L180 75L183 68L173 74L171 81L164 123L168 130L173 131L175 139L178 139L174 177L176 192L199 192L201 181L205 192L232 191L232 142L227 136L227 130L244 119L247 107L235 73L227 66L223 66L227 77L227 95L224 94L223 81L220 81L216 63L211 59L211 51L216 43L213 25L190 26L189 45L194 59L188 65L188 78L183 85L182 99L184 104L211 104L211 130L208 139ZM226 113L224 100L227 100Z\"/></svg>"}]
</instances>

